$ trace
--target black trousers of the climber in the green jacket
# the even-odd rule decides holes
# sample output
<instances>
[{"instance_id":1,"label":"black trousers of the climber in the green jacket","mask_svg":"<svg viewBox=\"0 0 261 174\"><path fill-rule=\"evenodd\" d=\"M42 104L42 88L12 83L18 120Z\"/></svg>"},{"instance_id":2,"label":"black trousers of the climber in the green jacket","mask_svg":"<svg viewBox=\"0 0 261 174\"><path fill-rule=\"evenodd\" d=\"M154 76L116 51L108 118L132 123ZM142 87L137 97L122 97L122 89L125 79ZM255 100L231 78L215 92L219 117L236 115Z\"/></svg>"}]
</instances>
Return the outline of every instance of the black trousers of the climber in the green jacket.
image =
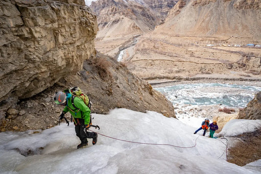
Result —
<instances>
[{"instance_id":1,"label":"black trousers of the climber in the green jacket","mask_svg":"<svg viewBox=\"0 0 261 174\"><path fill-rule=\"evenodd\" d=\"M85 124L84 119L74 119L76 136L81 140L81 144L87 144L87 138L95 138L94 132L84 132Z\"/></svg>"}]
</instances>

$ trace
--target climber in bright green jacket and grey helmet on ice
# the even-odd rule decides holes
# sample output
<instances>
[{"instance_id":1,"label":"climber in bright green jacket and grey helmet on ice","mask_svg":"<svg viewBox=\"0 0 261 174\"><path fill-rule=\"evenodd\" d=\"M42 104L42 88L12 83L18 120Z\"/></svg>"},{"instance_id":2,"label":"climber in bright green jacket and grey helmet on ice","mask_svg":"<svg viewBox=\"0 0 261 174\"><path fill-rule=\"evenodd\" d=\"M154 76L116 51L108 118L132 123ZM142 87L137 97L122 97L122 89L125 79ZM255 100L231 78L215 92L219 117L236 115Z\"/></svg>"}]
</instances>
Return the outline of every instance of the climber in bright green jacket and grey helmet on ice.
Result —
<instances>
[{"instance_id":1,"label":"climber in bright green jacket and grey helmet on ice","mask_svg":"<svg viewBox=\"0 0 261 174\"><path fill-rule=\"evenodd\" d=\"M90 128L90 113L91 110L85 105L84 101L78 97L73 97L70 93L65 94L64 92L58 91L53 96L54 102L61 106L66 106L63 109L59 119L62 120L64 115L69 111L73 116L75 125L76 136L81 140L81 144L77 146L79 148L86 148L88 146L87 138L93 138L93 145L97 143L97 133L88 132ZM72 103L73 100L73 103ZM73 104L75 107L73 107Z\"/></svg>"}]
</instances>

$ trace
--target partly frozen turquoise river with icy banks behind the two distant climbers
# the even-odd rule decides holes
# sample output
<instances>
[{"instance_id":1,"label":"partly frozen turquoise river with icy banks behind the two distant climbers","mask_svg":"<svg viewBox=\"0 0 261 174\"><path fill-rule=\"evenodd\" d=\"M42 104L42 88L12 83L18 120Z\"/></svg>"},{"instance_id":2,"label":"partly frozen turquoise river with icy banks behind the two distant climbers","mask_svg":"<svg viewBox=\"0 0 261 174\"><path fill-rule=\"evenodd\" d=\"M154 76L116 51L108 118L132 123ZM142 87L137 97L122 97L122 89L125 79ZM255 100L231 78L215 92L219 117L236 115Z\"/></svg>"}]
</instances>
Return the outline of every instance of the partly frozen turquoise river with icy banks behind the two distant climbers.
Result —
<instances>
[{"instance_id":1,"label":"partly frozen turquoise river with icy banks behind the two distant climbers","mask_svg":"<svg viewBox=\"0 0 261 174\"><path fill-rule=\"evenodd\" d=\"M179 84L154 89L173 103L176 117L190 125L195 118L204 120L219 115L219 108L234 108L238 112L261 91L258 86L224 83Z\"/></svg>"}]
</instances>

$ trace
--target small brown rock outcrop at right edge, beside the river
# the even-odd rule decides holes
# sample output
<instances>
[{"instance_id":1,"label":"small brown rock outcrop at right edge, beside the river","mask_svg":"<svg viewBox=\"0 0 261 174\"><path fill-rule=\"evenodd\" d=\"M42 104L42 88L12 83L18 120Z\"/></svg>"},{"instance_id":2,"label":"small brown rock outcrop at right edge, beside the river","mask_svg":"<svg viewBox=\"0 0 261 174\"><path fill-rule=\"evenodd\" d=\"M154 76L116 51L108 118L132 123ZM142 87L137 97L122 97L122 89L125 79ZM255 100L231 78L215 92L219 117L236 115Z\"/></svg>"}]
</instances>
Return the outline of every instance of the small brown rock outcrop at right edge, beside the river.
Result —
<instances>
[{"instance_id":1,"label":"small brown rock outcrop at right edge, beside the river","mask_svg":"<svg viewBox=\"0 0 261 174\"><path fill-rule=\"evenodd\" d=\"M239 110L237 119L261 120L261 92L255 95L247 107Z\"/></svg>"}]
</instances>

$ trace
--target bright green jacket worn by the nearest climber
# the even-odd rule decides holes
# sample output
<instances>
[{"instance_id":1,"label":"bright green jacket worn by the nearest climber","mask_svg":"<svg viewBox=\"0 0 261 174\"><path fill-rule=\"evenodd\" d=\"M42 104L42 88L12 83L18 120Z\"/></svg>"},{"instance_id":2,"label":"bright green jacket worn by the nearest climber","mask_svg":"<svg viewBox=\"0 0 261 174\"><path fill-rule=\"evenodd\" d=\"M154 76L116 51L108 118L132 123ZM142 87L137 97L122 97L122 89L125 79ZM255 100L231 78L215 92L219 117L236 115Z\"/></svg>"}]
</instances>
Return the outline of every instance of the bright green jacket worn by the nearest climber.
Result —
<instances>
[{"instance_id":1,"label":"bright green jacket worn by the nearest climber","mask_svg":"<svg viewBox=\"0 0 261 174\"><path fill-rule=\"evenodd\" d=\"M64 112L70 112L74 119L84 119L84 124L90 124L91 110L85 105L84 101L78 97L74 97L74 105L78 108L74 108L71 103L71 94L67 94L67 105L64 108Z\"/></svg>"}]
</instances>

